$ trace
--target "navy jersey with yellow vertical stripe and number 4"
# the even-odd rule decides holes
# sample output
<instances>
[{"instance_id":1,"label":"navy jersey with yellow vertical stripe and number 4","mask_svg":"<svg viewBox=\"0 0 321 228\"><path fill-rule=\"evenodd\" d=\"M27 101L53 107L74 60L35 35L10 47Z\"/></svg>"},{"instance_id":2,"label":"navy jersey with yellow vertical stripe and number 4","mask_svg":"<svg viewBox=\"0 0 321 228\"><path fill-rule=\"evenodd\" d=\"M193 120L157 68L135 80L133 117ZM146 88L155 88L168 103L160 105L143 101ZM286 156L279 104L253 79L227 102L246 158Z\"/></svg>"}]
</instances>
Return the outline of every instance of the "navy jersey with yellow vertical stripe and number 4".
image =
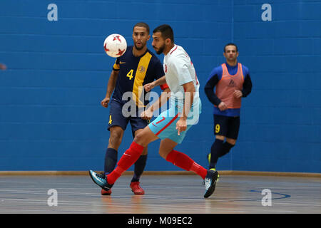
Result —
<instances>
[{"instance_id":1,"label":"navy jersey with yellow vertical stripe and number 4","mask_svg":"<svg viewBox=\"0 0 321 228\"><path fill-rule=\"evenodd\" d=\"M113 99L126 103L134 100L138 107L146 106L149 100L143 85L151 83L165 75L163 64L154 53L147 49L142 56L133 55L133 46L128 46L123 56L116 59L113 71L119 71ZM165 86L161 86L165 89ZM130 92L131 97L123 100L123 94ZM138 99L137 99L138 98ZM147 95L148 98L148 95Z\"/></svg>"}]
</instances>

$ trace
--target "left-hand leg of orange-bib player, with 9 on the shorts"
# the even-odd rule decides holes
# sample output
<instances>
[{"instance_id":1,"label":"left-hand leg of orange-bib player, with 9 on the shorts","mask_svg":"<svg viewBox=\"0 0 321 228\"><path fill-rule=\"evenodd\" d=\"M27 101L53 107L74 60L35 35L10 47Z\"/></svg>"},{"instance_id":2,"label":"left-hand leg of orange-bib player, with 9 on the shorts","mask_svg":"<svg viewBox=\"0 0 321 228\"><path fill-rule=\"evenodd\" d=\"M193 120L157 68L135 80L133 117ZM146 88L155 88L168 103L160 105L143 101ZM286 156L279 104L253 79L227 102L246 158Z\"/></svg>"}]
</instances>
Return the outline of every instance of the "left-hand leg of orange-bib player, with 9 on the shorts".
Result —
<instances>
[{"instance_id":1,"label":"left-hand leg of orange-bib player, with 9 on the shorts","mask_svg":"<svg viewBox=\"0 0 321 228\"><path fill-rule=\"evenodd\" d=\"M218 157L222 154L225 135L228 131L228 117L224 115L214 115L214 135L215 141L210 147L210 169L215 169Z\"/></svg>"}]
</instances>

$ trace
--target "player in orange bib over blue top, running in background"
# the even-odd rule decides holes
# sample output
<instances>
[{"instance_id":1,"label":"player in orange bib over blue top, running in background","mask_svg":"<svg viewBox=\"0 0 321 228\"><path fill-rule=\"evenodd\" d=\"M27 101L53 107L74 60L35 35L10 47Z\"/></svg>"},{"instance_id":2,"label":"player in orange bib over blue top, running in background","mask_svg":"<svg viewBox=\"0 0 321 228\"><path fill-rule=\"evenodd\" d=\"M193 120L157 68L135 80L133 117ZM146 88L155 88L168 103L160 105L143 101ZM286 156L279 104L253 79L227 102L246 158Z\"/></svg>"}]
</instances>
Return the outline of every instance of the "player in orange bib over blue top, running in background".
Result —
<instances>
[{"instance_id":1,"label":"player in orange bib over blue top, running in background","mask_svg":"<svg viewBox=\"0 0 321 228\"><path fill-rule=\"evenodd\" d=\"M218 158L230 152L236 143L240 128L241 99L252 90L248 68L238 63L238 47L228 43L223 54L226 62L213 69L205 84L205 94L214 105L215 141L208 155L209 168L213 170Z\"/></svg>"}]
</instances>

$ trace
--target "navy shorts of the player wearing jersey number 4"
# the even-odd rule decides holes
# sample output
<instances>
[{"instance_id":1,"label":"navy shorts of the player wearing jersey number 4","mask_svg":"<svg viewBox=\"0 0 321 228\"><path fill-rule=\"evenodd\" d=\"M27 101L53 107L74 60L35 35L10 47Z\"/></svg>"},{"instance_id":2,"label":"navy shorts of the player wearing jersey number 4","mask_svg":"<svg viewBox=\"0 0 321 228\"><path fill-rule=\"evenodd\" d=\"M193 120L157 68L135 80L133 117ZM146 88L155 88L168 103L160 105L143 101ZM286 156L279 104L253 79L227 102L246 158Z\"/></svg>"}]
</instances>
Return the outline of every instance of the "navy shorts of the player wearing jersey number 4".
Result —
<instances>
[{"instance_id":1,"label":"navy shorts of the player wearing jersey number 4","mask_svg":"<svg viewBox=\"0 0 321 228\"><path fill-rule=\"evenodd\" d=\"M123 130L126 130L126 127L129 122L131 123L131 130L134 135L136 130L145 128L149 123L149 120L143 120L141 117L139 117L138 110L136 111L136 116L133 116L133 117L123 116L123 113L122 113L123 104L120 103L118 100L112 99L111 102L109 103L109 107L110 107L110 112L109 112L110 115L108 119L108 130L110 130L110 128L113 126L119 126Z\"/></svg>"}]
</instances>

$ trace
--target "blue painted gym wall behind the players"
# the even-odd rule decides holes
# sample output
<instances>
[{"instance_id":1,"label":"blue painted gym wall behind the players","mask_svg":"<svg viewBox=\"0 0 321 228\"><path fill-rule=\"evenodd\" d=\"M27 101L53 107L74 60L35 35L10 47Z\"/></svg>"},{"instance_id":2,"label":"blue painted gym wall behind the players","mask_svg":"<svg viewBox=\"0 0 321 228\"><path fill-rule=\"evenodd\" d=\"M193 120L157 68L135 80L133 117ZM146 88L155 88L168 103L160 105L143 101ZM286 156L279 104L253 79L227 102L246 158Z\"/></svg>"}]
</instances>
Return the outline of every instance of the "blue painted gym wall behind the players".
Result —
<instances>
[{"instance_id":1,"label":"blue painted gym wall behind the players","mask_svg":"<svg viewBox=\"0 0 321 228\"><path fill-rule=\"evenodd\" d=\"M47 19L51 3L58 21ZM272 21L261 19L266 3ZM109 109L100 101L114 62L103 41L121 33L132 44L133 24L146 21L152 31L173 27L200 81L200 123L177 150L208 166L213 108L203 88L233 41L253 91L218 170L321 172L320 9L308 0L1 0L0 63L8 69L0 71L0 170L103 170ZM132 139L128 126L120 155ZM180 170L158 145L149 146L146 170Z\"/></svg>"}]
</instances>

